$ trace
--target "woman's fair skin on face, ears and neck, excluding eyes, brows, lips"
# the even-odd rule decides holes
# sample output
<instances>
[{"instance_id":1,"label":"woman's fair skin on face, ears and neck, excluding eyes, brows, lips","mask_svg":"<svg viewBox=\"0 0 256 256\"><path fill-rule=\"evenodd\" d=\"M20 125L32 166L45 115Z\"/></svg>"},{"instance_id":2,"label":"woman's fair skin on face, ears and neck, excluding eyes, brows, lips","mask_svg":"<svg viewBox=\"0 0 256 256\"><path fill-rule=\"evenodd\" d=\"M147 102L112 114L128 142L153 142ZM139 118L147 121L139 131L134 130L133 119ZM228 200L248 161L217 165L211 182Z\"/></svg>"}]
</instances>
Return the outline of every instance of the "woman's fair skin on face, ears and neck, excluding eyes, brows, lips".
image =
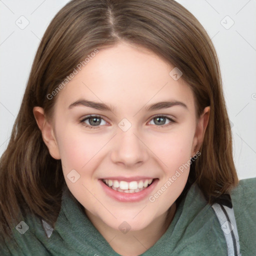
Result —
<instances>
[{"instance_id":1,"label":"woman's fair skin on face, ears and neck, excluding eyes, brows, lips","mask_svg":"<svg viewBox=\"0 0 256 256\"><path fill-rule=\"evenodd\" d=\"M153 195L199 149L208 123L209 107L196 118L193 93L182 76L175 81L169 75L173 67L145 48L120 42L99 49L58 93L52 119L41 107L33 109L51 156L61 159L69 190L110 246L124 256L143 253L166 231L170 223L166 223L167 209L171 206L172 219L189 169L154 202L148 196L138 202L119 202L106 195L99 179L136 175L158 178L149 194ZM80 99L104 102L115 112L82 105L68 108ZM168 100L181 101L186 107L143 108ZM89 129L79 122L89 114L103 118L98 128ZM153 118L156 114L166 114L174 122L166 118L157 125ZM123 118L131 124L127 131L118 127ZM88 119L85 122L89 125ZM72 169L80 174L74 183L67 178ZM125 234L118 228L123 221L130 226Z\"/></svg>"}]
</instances>

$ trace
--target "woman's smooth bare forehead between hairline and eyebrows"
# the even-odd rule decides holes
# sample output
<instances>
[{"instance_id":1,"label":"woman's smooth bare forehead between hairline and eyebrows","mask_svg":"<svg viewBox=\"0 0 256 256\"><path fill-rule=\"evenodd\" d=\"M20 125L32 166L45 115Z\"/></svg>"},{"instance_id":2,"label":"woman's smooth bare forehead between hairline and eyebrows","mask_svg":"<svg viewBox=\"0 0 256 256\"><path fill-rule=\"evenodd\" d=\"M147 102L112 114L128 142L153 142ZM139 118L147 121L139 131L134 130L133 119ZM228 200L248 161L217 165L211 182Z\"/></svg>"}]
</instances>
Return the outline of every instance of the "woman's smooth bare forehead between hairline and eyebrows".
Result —
<instances>
[{"instance_id":1,"label":"woman's smooth bare forehead between hairline and eyebrows","mask_svg":"<svg viewBox=\"0 0 256 256\"><path fill-rule=\"evenodd\" d=\"M192 91L169 72L174 68L155 53L127 43L99 49L58 95L61 104L86 98L112 108L134 110L163 100L185 101L194 107ZM64 105L63 105L64 107Z\"/></svg>"}]
</instances>

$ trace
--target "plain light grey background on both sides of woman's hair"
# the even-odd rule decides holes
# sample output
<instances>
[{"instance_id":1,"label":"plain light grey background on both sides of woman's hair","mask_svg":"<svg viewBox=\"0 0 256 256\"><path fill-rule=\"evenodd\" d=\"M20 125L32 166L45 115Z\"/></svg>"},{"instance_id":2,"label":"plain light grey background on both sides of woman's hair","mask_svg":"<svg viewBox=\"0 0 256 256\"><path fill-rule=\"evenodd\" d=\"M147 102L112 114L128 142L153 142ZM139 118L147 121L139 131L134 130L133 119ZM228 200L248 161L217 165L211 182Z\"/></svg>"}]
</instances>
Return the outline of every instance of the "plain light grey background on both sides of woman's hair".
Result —
<instances>
[{"instance_id":1,"label":"plain light grey background on both sides of woman's hair","mask_svg":"<svg viewBox=\"0 0 256 256\"><path fill-rule=\"evenodd\" d=\"M255 177L256 0L177 1L201 22L216 48L238 177ZM0 0L0 155L7 146L40 38L67 2ZM29 24L21 29L15 22Z\"/></svg>"}]
</instances>

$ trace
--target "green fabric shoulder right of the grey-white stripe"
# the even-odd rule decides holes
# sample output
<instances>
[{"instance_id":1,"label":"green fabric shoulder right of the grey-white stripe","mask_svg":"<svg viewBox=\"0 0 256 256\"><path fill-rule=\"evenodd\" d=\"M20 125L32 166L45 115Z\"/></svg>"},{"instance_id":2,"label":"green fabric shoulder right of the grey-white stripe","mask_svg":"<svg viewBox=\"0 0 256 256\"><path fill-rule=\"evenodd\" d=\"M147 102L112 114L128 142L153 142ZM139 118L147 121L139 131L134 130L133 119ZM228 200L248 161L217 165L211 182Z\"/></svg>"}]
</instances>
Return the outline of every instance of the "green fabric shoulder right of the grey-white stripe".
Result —
<instances>
[{"instance_id":1,"label":"green fabric shoulder right of the grey-white stripe","mask_svg":"<svg viewBox=\"0 0 256 256\"><path fill-rule=\"evenodd\" d=\"M239 180L230 192L242 255L256 255L256 177Z\"/></svg>"}]
</instances>

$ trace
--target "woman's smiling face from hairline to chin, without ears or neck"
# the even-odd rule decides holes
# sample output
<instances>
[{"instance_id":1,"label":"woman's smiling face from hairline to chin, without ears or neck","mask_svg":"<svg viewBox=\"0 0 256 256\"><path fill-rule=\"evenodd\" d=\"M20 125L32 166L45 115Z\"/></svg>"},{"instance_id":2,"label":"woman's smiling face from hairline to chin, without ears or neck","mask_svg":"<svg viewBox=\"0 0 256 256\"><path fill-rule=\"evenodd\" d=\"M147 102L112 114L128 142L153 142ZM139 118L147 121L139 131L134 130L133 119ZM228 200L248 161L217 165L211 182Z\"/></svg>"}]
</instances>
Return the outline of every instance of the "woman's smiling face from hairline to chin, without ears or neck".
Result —
<instances>
[{"instance_id":1,"label":"woman's smiling face from hairline to chin, without ears or neck","mask_svg":"<svg viewBox=\"0 0 256 256\"><path fill-rule=\"evenodd\" d=\"M65 182L88 215L114 229L148 226L186 183L198 120L173 68L119 43L99 49L58 92L52 126Z\"/></svg>"}]
</instances>

